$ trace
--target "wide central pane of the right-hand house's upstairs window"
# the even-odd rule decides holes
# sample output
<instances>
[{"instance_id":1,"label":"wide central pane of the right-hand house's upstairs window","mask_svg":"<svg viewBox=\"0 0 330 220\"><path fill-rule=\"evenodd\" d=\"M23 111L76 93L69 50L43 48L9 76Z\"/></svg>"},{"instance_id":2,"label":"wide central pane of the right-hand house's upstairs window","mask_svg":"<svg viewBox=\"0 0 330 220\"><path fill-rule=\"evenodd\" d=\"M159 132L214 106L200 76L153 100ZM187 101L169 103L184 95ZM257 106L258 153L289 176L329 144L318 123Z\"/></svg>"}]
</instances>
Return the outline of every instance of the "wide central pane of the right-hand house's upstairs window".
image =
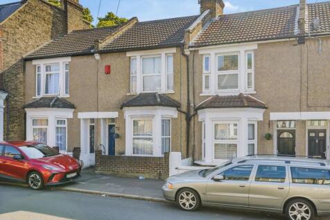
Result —
<instances>
[{"instance_id":1,"label":"wide central pane of the right-hand house's upstairs window","mask_svg":"<svg viewBox=\"0 0 330 220\"><path fill-rule=\"evenodd\" d=\"M217 59L217 90L238 90L238 54L221 55Z\"/></svg>"}]
</instances>

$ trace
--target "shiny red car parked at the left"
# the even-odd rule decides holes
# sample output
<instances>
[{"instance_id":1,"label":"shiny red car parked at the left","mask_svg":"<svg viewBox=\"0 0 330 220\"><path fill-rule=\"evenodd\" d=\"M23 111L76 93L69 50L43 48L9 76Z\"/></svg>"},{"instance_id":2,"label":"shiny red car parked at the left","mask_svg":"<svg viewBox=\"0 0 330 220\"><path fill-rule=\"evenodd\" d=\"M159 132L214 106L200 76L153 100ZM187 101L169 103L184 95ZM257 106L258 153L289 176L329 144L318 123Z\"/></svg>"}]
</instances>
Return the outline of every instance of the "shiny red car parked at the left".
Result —
<instances>
[{"instance_id":1,"label":"shiny red car parked at the left","mask_svg":"<svg viewBox=\"0 0 330 220\"><path fill-rule=\"evenodd\" d=\"M38 142L0 142L0 178L28 183L31 189L80 177L78 160Z\"/></svg>"}]
</instances>

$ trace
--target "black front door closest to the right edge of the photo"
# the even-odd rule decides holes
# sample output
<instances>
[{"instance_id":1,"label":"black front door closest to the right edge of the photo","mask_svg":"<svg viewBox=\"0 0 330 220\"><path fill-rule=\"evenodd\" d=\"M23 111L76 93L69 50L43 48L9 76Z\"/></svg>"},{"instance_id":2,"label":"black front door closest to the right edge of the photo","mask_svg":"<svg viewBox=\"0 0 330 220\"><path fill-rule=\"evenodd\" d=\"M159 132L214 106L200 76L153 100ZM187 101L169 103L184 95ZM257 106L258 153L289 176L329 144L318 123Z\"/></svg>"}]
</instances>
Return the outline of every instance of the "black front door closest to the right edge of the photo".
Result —
<instances>
[{"instance_id":1,"label":"black front door closest to the right edge of the photo","mask_svg":"<svg viewBox=\"0 0 330 220\"><path fill-rule=\"evenodd\" d=\"M309 157L325 159L327 130L309 130Z\"/></svg>"}]
</instances>

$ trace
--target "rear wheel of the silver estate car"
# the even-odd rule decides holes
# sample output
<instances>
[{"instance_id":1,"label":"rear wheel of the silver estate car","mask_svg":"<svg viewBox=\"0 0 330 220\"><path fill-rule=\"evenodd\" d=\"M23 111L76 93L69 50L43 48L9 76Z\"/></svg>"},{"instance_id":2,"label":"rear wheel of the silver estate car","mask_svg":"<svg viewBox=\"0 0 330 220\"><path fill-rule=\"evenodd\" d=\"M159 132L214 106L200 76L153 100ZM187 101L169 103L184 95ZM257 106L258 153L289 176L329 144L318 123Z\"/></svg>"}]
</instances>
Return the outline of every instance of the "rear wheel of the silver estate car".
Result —
<instances>
[{"instance_id":1,"label":"rear wheel of the silver estate car","mask_svg":"<svg viewBox=\"0 0 330 220\"><path fill-rule=\"evenodd\" d=\"M309 201L294 199L286 205L286 217L289 220L313 220L315 210Z\"/></svg>"}]
</instances>

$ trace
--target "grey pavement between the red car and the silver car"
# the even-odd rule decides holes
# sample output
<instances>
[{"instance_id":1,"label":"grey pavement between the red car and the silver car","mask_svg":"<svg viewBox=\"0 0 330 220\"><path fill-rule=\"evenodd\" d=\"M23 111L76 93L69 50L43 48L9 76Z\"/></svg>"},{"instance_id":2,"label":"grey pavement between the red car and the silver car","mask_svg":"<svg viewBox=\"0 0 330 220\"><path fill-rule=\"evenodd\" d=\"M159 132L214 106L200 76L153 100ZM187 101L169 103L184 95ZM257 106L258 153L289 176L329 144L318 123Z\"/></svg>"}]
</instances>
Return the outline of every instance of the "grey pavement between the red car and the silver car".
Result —
<instances>
[{"instance_id":1,"label":"grey pavement between the red car and the silver car","mask_svg":"<svg viewBox=\"0 0 330 220\"><path fill-rule=\"evenodd\" d=\"M51 189L165 202L162 195L163 185L163 180L140 180L139 178L96 174L94 169L90 168L84 169L82 177L74 182L51 187Z\"/></svg>"}]
</instances>

